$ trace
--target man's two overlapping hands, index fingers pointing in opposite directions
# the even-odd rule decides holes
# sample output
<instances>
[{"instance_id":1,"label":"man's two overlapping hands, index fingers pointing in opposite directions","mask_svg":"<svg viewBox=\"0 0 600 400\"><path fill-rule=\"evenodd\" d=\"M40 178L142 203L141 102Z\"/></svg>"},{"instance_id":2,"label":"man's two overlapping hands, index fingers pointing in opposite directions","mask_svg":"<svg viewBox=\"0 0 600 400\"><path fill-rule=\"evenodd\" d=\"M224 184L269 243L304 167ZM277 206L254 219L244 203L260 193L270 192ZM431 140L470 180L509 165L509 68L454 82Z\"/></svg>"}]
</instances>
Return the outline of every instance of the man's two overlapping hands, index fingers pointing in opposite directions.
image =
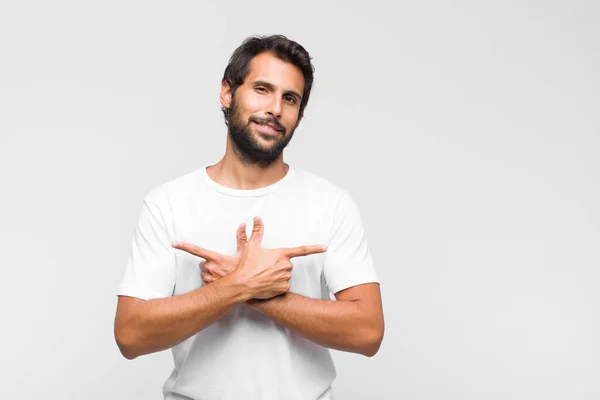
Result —
<instances>
[{"instance_id":1,"label":"man's two overlapping hands, index fingers pointing in opposite directions","mask_svg":"<svg viewBox=\"0 0 600 400\"><path fill-rule=\"evenodd\" d=\"M262 299L289 290L293 268L291 258L327 250L321 245L262 249L260 244L263 233L264 226L258 217L254 220L250 240L246 238L245 224L241 224L236 232L237 250L233 255L223 255L189 243L174 242L173 247L206 260L205 263L200 263L204 282L211 283L235 272L236 278L248 286L252 297Z\"/></svg>"}]
</instances>

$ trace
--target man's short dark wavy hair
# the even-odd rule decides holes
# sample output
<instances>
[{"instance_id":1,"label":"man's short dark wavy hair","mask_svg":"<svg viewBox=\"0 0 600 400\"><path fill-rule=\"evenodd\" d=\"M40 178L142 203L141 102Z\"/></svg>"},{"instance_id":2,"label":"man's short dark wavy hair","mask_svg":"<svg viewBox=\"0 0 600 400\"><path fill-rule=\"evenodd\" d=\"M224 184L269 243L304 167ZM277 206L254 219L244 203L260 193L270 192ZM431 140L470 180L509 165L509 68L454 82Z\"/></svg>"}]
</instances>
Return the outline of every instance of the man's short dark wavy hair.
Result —
<instances>
[{"instance_id":1,"label":"man's short dark wavy hair","mask_svg":"<svg viewBox=\"0 0 600 400\"><path fill-rule=\"evenodd\" d=\"M302 75L304 76L304 93L302 93L302 101L300 102L300 111L298 113L298 116L301 116L310 97L315 68L311 64L310 55L304 47L283 35L250 36L244 40L240 47L235 49L231 55L221 83L225 81L229 83L233 98L236 89L244 83L244 79L246 79L246 76L250 72L250 61L262 53L270 53L282 61L295 65L302 71ZM221 107L221 109L225 116L225 125L228 125L229 109L227 107Z\"/></svg>"}]
</instances>

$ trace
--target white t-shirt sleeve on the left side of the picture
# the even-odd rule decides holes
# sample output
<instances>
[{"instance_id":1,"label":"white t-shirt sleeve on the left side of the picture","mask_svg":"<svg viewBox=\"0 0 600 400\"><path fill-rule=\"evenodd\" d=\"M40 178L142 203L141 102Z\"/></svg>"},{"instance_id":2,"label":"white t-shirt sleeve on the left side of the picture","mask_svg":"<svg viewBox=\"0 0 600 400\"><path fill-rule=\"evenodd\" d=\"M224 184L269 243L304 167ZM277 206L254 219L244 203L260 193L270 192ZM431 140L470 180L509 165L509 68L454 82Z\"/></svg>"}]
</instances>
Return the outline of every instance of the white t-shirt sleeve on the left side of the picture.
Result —
<instances>
[{"instance_id":1,"label":"white t-shirt sleeve on the left side of the picture","mask_svg":"<svg viewBox=\"0 0 600 400\"><path fill-rule=\"evenodd\" d=\"M176 258L164 215L156 203L145 199L117 295L144 300L168 297L175 278Z\"/></svg>"}]
</instances>

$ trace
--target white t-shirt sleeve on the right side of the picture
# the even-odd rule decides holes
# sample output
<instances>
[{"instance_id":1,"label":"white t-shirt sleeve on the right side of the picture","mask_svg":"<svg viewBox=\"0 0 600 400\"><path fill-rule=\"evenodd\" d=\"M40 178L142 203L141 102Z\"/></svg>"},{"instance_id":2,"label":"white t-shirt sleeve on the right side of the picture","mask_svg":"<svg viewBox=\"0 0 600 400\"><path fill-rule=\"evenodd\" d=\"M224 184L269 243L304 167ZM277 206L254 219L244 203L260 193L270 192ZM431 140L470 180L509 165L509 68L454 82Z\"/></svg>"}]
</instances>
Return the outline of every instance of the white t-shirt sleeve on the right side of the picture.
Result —
<instances>
[{"instance_id":1,"label":"white t-shirt sleeve on the right side of the picture","mask_svg":"<svg viewBox=\"0 0 600 400\"><path fill-rule=\"evenodd\" d=\"M358 206L346 192L334 210L324 277L331 293L363 283L379 282Z\"/></svg>"}]
</instances>

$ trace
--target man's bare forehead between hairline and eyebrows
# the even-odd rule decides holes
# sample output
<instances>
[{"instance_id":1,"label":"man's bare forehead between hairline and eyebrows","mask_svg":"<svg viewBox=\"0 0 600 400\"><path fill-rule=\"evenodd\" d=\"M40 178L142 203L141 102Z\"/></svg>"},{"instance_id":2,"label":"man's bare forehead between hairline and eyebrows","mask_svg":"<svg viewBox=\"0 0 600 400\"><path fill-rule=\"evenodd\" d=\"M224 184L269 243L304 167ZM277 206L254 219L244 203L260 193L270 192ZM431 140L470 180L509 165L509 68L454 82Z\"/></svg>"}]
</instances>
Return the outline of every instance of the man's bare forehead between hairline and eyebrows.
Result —
<instances>
[{"instance_id":1,"label":"man's bare forehead between hairline and eyebrows","mask_svg":"<svg viewBox=\"0 0 600 400\"><path fill-rule=\"evenodd\" d=\"M304 91L304 75L300 68L269 53L261 53L250 61L244 83L266 81L283 90Z\"/></svg>"}]
</instances>

